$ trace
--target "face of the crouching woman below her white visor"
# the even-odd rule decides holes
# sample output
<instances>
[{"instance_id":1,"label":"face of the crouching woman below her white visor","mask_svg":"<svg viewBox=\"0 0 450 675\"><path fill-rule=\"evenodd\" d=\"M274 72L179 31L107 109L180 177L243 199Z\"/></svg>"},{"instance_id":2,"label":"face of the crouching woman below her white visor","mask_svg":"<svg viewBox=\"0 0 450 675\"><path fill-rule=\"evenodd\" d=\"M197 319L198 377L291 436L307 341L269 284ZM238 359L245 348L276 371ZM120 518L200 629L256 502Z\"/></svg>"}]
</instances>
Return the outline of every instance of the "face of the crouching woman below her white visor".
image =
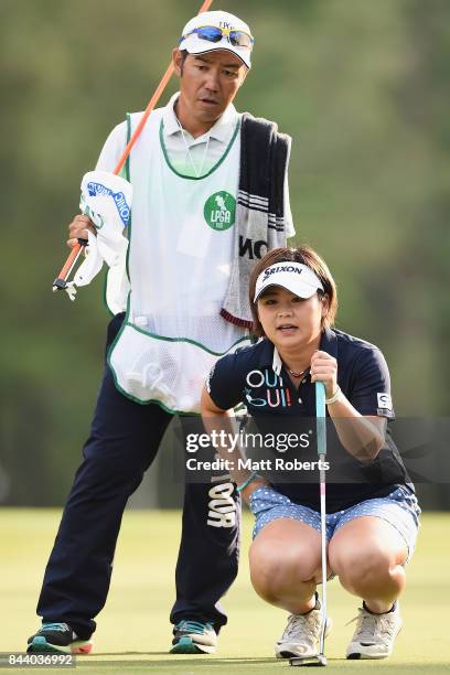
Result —
<instances>
[{"instance_id":1,"label":"face of the crouching woman below her white visor","mask_svg":"<svg viewBox=\"0 0 450 675\"><path fill-rule=\"evenodd\" d=\"M281 286L271 286L257 301L258 317L267 338L280 349L306 347L322 332L326 297L304 300Z\"/></svg>"}]
</instances>

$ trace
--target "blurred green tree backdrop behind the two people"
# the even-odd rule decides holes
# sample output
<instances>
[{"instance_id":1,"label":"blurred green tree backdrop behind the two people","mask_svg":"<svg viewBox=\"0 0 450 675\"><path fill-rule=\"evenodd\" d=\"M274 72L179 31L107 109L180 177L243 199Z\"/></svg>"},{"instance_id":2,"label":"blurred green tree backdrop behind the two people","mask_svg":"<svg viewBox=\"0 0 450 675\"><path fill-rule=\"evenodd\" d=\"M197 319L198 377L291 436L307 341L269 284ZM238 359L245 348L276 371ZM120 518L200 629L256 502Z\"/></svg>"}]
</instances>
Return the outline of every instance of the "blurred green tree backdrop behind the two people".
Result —
<instances>
[{"instance_id":1,"label":"blurred green tree backdrop behind the two people","mask_svg":"<svg viewBox=\"0 0 450 675\"><path fill-rule=\"evenodd\" d=\"M82 175L125 113L146 107L199 4L0 0L0 503L60 504L69 489L108 314L101 279L75 303L51 292L66 224ZM212 9L238 14L256 36L236 105L293 137L297 240L335 275L338 326L384 351L398 416L447 416L450 2L224 0ZM180 501L154 494L141 503ZM426 503L450 506L446 494L428 486Z\"/></svg>"}]
</instances>

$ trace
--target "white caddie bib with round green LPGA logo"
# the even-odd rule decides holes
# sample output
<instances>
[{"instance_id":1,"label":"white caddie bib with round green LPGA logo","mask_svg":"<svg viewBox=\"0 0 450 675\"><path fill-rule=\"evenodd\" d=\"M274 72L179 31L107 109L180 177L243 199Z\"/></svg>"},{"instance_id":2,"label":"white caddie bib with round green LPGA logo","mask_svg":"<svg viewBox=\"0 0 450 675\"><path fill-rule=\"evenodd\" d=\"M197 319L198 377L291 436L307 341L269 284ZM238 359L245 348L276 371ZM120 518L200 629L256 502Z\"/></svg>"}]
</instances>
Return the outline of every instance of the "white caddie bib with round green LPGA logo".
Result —
<instances>
[{"instance_id":1,"label":"white caddie bib with round green LPGA logo","mask_svg":"<svg viewBox=\"0 0 450 675\"><path fill-rule=\"evenodd\" d=\"M140 114L131 116L132 128ZM197 413L215 361L248 344L219 311L232 270L239 132L203 178L182 176L163 143L154 111L130 161L133 185L124 328L109 354L116 384L140 403Z\"/></svg>"}]
</instances>

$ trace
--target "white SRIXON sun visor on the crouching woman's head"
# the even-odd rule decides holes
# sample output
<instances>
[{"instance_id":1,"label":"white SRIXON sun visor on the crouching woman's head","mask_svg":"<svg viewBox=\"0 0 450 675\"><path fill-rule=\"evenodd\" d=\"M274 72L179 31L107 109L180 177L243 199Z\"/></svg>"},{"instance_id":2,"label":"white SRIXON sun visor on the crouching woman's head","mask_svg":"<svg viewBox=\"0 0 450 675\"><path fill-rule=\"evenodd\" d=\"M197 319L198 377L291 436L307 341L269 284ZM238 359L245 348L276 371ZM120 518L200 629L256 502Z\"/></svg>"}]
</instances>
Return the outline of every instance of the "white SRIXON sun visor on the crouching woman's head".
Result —
<instances>
[{"instance_id":1,"label":"white SRIXON sun visor on the crouching woman's head","mask_svg":"<svg viewBox=\"0 0 450 675\"><path fill-rule=\"evenodd\" d=\"M323 291L317 274L302 262L276 262L262 270L256 281L254 302L269 286L282 286L304 299L311 298L318 290Z\"/></svg>"}]
</instances>

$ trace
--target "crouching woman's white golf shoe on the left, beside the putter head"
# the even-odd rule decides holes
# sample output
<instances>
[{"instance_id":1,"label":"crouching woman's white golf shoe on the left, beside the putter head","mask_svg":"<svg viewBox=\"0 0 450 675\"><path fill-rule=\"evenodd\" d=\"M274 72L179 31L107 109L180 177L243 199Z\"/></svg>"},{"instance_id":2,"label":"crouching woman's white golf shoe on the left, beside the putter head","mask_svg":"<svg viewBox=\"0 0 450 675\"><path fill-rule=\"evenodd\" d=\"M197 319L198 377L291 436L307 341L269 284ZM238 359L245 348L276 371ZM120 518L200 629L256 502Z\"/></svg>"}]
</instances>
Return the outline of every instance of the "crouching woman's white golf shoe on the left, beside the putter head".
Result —
<instances>
[{"instance_id":1,"label":"crouching woman's white golf shoe on the left, beside the putter head","mask_svg":"<svg viewBox=\"0 0 450 675\"><path fill-rule=\"evenodd\" d=\"M308 614L290 614L283 634L275 644L275 655L277 658L317 656L321 628L320 609L313 609ZM331 619L326 619L325 635L330 630Z\"/></svg>"}]
</instances>

